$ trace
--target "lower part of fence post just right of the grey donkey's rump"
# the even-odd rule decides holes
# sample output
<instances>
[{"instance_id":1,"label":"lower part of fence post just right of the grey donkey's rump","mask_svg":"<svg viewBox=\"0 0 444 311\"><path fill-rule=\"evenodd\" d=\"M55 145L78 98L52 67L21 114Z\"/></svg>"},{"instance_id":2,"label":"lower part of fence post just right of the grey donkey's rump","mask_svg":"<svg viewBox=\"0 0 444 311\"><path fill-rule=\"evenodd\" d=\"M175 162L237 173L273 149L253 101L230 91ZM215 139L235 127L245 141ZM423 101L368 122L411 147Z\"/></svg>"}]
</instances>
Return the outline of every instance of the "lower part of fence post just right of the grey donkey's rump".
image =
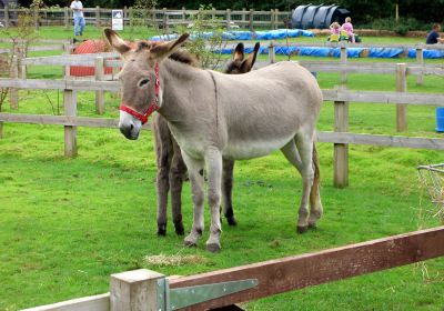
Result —
<instances>
[{"instance_id":1,"label":"lower part of fence post just right of the grey donkey's rump","mask_svg":"<svg viewBox=\"0 0 444 311\"><path fill-rule=\"evenodd\" d=\"M349 131L349 102L334 102L334 131ZM336 188L345 188L349 185L349 144L334 144L334 178L333 184Z\"/></svg>"}]
</instances>

